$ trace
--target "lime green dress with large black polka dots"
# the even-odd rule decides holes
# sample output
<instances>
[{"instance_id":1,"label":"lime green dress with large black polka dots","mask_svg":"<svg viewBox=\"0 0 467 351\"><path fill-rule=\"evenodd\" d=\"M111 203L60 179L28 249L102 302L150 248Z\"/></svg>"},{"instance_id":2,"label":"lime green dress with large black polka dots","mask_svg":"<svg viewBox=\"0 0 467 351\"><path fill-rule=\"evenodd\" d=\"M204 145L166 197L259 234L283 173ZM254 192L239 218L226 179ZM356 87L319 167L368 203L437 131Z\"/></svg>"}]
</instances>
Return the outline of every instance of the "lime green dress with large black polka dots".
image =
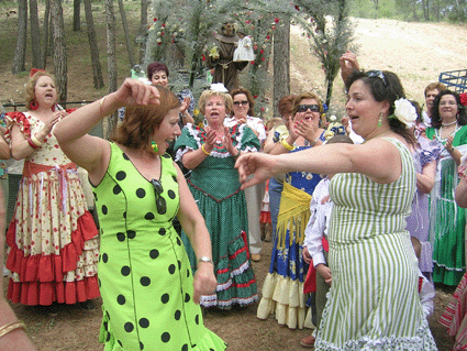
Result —
<instances>
[{"instance_id":1,"label":"lime green dress with large black polka dots","mask_svg":"<svg viewBox=\"0 0 467 351\"><path fill-rule=\"evenodd\" d=\"M192 300L190 264L171 224L179 206L177 171L168 154L160 160L162 193L156 193L111 143L108 172L94 187L101 227L100 341L105 351L224 350Z\"/></svg>"}]
</instances>

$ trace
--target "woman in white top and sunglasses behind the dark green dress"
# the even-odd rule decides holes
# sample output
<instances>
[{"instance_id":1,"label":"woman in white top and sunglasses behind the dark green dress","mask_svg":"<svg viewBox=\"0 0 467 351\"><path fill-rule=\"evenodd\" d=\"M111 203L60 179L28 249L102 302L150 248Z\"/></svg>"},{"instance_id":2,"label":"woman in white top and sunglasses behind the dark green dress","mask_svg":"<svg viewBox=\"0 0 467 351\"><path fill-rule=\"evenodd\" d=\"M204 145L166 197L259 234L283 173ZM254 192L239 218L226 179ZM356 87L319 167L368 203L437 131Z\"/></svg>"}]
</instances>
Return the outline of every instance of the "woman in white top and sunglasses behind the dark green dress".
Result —
<instances>
[{"instance_id":1,"label":"woman in white top and sunglasses behind the dark green dress","mask_svg":"<svg viewBox=\"0 0 467 351\"><path fill-rule=\"evenodd\" d=\"M224 125L246 124L258 136L263 145L266 140L266 129L263 120L253 116L255 101L248 89L238 88L231 91L233 99L232 117L224 120ZM248 210L248 239L252 261L262 259L262 230L259 228L259 212L265 195L265 184L258 184L245 190L246 207Z\"/></svg>"}]
</instances>

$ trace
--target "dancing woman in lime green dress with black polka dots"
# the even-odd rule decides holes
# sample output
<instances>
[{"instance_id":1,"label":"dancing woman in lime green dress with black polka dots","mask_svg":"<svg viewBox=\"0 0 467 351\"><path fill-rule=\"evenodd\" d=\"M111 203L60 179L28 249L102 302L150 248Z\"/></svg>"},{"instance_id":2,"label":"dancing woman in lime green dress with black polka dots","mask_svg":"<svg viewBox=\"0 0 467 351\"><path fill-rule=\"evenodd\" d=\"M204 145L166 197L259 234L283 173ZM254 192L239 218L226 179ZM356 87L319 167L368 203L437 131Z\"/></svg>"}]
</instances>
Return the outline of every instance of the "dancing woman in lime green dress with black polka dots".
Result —
<instances>
[{"instance_id":1,"label":"dancing woman in lime green dress with black polka dots","mask_svg":"<svg viewBox=\"0 0 467 351\"><path fill-rule=\"evenodd\" d=\"M113 142L86 134L123 106ZM105 351L225 349L204 328L197 305L215 290L209 233L184 175L165 153L180 134L178 111L177 97L166 88L126 79L55 129L63 151L94 186ZM175 216L199 261L194 277L171 224Z\"/></svg>"}]
</instances>

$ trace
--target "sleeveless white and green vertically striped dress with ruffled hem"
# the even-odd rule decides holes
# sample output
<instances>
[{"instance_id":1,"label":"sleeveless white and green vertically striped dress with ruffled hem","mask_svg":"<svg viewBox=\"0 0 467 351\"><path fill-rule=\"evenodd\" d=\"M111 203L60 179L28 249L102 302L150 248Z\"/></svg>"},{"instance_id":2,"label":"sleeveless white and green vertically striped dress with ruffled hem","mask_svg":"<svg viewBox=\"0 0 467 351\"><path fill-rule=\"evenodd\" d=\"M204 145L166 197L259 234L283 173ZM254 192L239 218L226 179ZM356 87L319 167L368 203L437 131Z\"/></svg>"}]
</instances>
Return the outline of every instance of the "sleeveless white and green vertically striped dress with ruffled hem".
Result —
<instances>
[{"instance_id":1,"label":"sleeveless white and green vertically striped dress with ruffled hem","mask_svg":"<svg viewBox=\"0 0 467 351\"><path fill-rule=\"evenodd\" d=\"M418 295L418 262L405 231L415 193L409 150L396 139L402 174L377 184L362 174L331 182L333 282L315 350L436 350Z\"/></svg>"}]
</instances>

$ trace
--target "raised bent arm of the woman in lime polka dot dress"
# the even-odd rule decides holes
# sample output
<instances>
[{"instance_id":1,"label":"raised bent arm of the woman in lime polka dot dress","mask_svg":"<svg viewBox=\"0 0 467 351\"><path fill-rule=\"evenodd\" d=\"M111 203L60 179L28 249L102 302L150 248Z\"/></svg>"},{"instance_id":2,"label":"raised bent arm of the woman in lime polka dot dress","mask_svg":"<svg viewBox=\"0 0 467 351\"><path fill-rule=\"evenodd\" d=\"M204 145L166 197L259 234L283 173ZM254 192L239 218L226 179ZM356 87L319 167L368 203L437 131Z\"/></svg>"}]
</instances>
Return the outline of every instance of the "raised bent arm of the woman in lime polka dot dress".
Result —
<instances>
[{"instance_id":1,"label":"raised bent arm of the woman in lime polka dot dress","mask_svg":"<svg viewBox=\"0 0 467 351\"><path fill-rule=\"evenodd\" d=\"M63 152L77 165L89 172L89 178L98 184L110 158L109 142L87 135L105 116L123 106L159 103L157 88L142 81L125 79L119 90L74 111L55 127L54 134Z\"/></svg>"}]
</instances>

